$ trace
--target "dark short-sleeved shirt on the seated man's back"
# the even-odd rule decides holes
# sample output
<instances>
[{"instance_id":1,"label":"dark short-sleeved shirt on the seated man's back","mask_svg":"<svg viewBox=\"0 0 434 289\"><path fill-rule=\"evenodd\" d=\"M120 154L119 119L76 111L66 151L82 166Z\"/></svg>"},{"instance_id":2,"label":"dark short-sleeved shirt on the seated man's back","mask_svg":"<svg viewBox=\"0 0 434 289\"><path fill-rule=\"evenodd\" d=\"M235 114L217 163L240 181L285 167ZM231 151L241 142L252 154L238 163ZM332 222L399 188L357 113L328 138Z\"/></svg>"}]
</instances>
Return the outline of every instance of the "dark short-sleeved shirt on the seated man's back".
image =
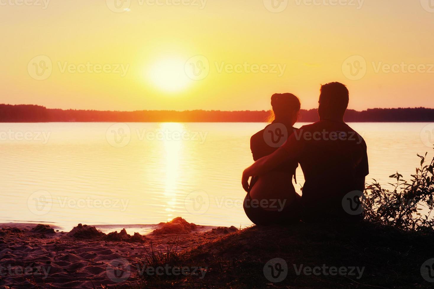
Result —
<instances>
[{"instance_id":1,"label":"dark short-sleeved shirt on the seated man's back","mask_svg":"<svg viewBox=\"0 0 434 289\"><path fill-rule=\"evenodd\" d=\"M303 204L312 214L345 214L342 198L367 176L365 140L342 122L304 125L282 146L302 168Z\"/></svg>"}]
</instances>

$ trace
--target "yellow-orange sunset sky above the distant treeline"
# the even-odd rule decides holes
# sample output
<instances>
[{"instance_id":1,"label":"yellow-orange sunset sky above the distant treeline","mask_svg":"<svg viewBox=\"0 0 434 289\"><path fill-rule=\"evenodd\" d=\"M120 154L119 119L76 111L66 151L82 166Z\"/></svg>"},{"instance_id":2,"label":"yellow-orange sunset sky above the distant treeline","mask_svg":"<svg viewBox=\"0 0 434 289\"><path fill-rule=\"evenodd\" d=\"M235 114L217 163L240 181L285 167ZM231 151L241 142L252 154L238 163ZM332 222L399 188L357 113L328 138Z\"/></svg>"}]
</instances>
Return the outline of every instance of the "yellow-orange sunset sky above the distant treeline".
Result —
<instances>
[{"instance_id":1,"label":"yellow-orange sunset sky above the distant treeline","mask_svg":"<svg viewBox=\"0 0 434 289\"><path fill-rule=\"evenodd\" d=\"M116 1L0 0L0 103L311 109L339 81L352 109L434 107L431 0Z\"/></svg>"}]
</instances>

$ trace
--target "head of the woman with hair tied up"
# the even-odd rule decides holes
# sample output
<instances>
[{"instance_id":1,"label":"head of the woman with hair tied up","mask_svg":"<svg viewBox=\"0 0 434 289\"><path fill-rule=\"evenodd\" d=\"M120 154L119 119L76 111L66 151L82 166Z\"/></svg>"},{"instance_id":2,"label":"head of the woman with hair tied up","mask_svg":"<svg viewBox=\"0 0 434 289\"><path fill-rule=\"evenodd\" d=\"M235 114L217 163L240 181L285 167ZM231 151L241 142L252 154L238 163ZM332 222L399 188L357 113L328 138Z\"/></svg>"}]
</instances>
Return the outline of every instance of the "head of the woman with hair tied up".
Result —
<instances>
[{"instance_id":1,"label":"head of the woman with hair tied up","mask_svg":"<svg viewBox=\"0 0 434 289\"><path fill-rule=\"evenodd\" d=\"M289 122L291 125L297 122L300 112L300 100L292 93L275 93L271 96L274 120L277 122Z\"/></svg>"}]
</instances>

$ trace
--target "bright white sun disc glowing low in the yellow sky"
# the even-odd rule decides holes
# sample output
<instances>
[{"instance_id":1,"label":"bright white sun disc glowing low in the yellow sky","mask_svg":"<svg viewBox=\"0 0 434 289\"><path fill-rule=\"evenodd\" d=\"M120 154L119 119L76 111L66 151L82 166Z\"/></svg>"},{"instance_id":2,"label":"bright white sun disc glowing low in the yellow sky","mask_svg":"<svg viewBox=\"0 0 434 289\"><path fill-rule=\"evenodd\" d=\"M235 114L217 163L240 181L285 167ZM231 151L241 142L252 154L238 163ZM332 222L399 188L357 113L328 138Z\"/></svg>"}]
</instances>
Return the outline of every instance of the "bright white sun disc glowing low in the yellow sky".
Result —
<instances>
[{"instance_id":1,"label":"bright white sun disc glowing low in the yellow sky","mask_svg":"<svg viewBox=\"0 0 434 289\"><path fill-rule=\"evenodd\" d=\"M177 92L184 90L191 80L184 71L185 61L164 59L155 62L148 71L151 82L161 90Z\"/></svg>"}]
</instances>

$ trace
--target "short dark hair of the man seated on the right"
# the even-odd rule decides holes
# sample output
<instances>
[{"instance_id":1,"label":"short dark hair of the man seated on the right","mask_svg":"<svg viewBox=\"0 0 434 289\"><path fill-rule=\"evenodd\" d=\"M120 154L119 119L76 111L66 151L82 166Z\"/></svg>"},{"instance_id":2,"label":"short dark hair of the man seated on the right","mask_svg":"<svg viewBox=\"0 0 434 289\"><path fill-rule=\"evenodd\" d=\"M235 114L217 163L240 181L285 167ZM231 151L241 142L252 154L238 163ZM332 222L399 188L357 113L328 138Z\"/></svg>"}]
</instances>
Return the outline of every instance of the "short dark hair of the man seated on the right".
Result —
<instances>
[{"instance_id":1,"label":"short dark hair of the man seated on the right","mask_svg":"<svg viewBox=\"0 0 434 289\"><path fill-rule=\"evenodd\" d=\"M319 102L334 113L344 114L349 103L347 87L340 82L330 82L321 86Z\"/></svg>"}]
</instances>

